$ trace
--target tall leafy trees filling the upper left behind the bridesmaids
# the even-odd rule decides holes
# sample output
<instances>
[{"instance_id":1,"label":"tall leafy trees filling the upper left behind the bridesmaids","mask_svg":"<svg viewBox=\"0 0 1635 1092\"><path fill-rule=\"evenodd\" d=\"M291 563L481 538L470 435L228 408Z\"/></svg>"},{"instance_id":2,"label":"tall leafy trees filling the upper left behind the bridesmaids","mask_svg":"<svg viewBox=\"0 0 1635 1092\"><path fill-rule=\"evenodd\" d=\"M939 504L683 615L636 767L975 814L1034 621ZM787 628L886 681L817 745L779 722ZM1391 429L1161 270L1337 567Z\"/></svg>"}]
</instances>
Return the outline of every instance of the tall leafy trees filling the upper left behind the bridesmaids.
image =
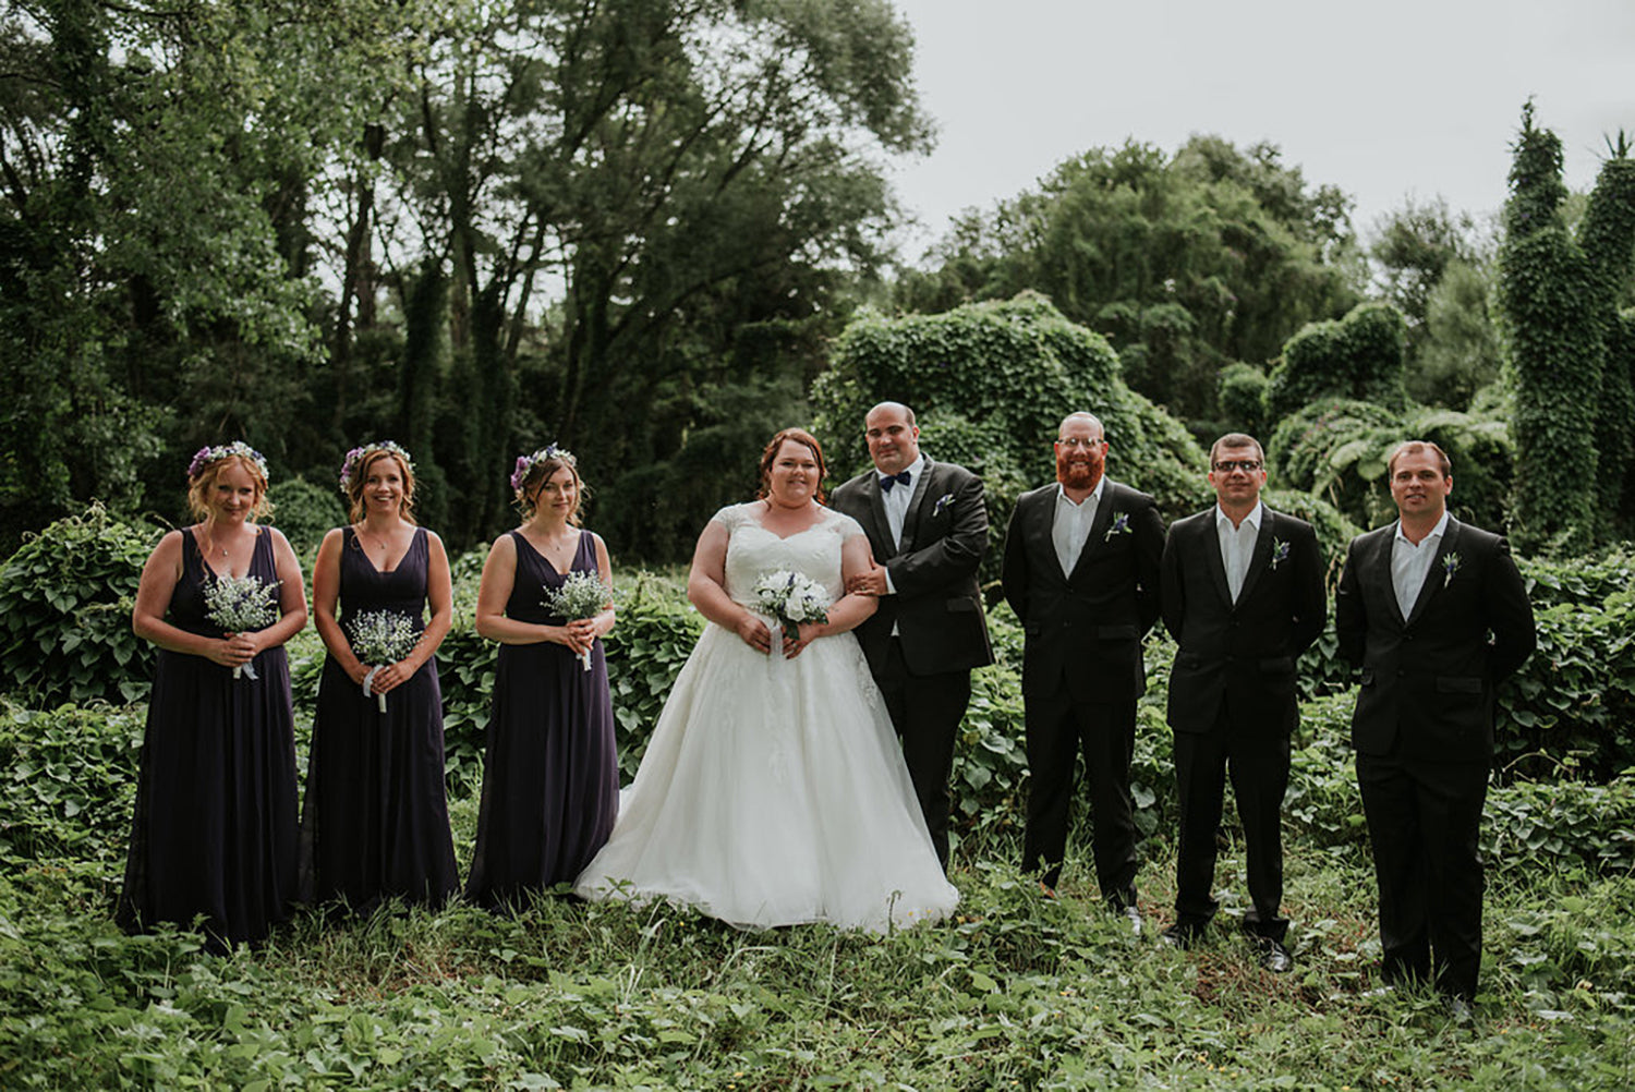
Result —
<instances>
[{"instance_id":1,"label":"tall leafy trees filling the upper left behind the bridesmaids","mask_svg":"<svg viewBox=\"0 0 1635 1092\"><path fill-rule=\"evenodd\" d=\"M456 549L556 440L669 559L718 499L649 538L656 487L798 420L881 262L909 62L885 0L7 8L0 551L88 497L180 521L206 441L324 482L394 436Z\"/></svg>"}]
</instances>

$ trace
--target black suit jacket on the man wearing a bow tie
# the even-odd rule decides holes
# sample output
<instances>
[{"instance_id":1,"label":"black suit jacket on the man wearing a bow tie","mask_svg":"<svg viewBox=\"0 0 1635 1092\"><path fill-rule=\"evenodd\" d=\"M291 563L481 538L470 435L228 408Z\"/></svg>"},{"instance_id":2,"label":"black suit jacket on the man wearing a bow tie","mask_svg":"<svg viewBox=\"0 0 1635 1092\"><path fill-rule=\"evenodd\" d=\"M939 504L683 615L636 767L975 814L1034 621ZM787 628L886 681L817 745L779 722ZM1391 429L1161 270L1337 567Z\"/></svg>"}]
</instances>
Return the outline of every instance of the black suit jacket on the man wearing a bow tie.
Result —
<instances>
[{"instance_id":1,"label":"black suit jacket on the man wearing a bow tie","mask_svg":"<svg viewBox=\"0 0 1635 1092\"><path fill-rule=\"evenodd\" d=\"M903 662L914 675L994 662L976 580L988 551L983 479L963 466L927 458L903 518L901 548L891 541L876 471L835 489L831 505L863 525L875 561L886 567L896 589L894 595L880 597L880 608L855 631L871 672L885 669L893 626L903 642Z\"/></svg>"}]
</instances>

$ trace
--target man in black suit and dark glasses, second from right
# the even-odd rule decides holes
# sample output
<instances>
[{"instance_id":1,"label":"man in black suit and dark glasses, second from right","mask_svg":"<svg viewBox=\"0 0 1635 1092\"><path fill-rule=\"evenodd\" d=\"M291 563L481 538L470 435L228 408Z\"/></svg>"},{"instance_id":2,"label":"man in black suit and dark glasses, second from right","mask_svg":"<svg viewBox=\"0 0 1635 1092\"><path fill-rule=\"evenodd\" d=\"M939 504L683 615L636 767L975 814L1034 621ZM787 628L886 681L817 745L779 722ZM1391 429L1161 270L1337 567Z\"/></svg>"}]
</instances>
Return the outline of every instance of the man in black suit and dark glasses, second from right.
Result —
<instances>
[{"instance_id":1,"label":"man in black suit and dark glasses, second from right","mask_svg":"<svg viewBox=\"0 0 1635 1092\"><path fill-rule=\"evenodd\" d=\"M1310 523L1261 502L1265 453L1254 436L1216 440L1208 481L1216 503L1177 520L1164 543L1164 626L1179 644L1169 726L1180 796L1176 924L1164 940L1185 948L1215 917L1215 827L1230 768L1249 858L1243 927L1264 968L1288 971L1282 809L1300 721L1295 664L1326 611L1323 557Z\"/></svg>"}]
</instances>

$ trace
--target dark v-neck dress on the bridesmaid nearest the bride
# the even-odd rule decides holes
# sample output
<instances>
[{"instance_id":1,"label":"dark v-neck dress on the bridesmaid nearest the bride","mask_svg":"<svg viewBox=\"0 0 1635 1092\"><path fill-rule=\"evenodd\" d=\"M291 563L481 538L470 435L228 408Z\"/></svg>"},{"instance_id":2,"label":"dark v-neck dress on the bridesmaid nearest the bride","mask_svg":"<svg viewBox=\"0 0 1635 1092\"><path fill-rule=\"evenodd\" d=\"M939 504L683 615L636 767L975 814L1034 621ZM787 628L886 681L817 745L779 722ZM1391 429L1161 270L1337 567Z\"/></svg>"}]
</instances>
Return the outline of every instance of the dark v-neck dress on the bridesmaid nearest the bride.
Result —
<instances>
[{"instance_id":1,"label":"dark v-neck dress on the bridesmaid nearest the bride","mask_svg":"<svg viewBox=\"0 0 1635 1092\"><path fill-rule=\"evenodd\" d=\"M544 605L566 574L512 531L517 575L505 616L561 626ZM595 572L595 536L579 533L569 572ZM494 674L477 847L466 897L515 906L528 893L572 883L613 830L618 752L602 641L590 670L556 642L502 644Z\"/></svg>"}]
</instances>

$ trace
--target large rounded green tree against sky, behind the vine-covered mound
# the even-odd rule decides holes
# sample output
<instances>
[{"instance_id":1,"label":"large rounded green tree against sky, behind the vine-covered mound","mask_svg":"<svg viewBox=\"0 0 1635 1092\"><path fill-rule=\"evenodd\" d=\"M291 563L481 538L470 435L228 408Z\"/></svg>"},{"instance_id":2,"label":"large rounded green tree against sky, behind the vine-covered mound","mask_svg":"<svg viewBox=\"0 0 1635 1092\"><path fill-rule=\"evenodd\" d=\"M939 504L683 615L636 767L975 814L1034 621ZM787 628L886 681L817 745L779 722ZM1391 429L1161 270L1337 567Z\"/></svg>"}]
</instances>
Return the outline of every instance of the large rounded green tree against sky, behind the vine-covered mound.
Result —
<instances>
[{"instance_id":1,"label":"large rounded green tree against sky, behind the vine-covered mound","mask_svg":"<svg viewBox=\"0 0 1635 1092\"><path fill-rule=\"evenodd\" d=\"M1347 204L1270 144L1091 149L963 217L898 302L948 311L1040 291L1109 338L1135 391L1210 432L1221 366L1270 360L1303 324L1357 302Z\"/></svg>"}]
</instances>

